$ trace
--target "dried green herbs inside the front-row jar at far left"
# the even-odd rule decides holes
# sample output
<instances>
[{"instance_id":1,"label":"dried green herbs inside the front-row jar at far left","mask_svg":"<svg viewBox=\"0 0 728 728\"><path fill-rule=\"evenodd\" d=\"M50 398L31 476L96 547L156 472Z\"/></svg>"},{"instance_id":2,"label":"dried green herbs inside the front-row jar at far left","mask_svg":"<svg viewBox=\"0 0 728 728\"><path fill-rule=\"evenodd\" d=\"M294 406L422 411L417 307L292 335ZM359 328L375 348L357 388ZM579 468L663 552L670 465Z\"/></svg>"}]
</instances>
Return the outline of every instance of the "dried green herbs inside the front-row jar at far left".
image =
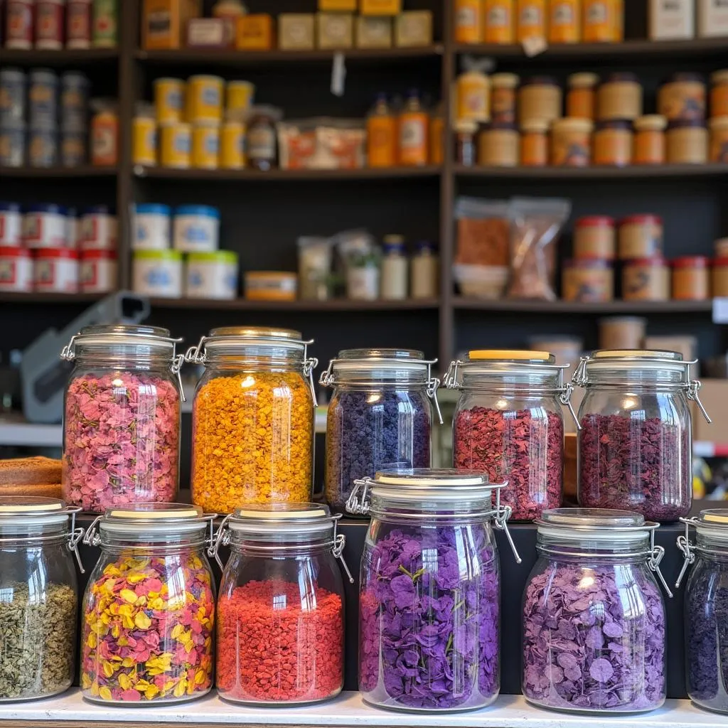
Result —
<instances>
[{"instance_id":1,"label":"dried green herbs inside the front-row jar at far left","mask_svg":"<svg viewBox=\"0 0 728 728\"><path fill-rule=\"evenodd\" d=\"M0 587L0 700L53 695L73 682L76 592L38 586L32 597L27 584Z\"/></svg>"}]
</instances>

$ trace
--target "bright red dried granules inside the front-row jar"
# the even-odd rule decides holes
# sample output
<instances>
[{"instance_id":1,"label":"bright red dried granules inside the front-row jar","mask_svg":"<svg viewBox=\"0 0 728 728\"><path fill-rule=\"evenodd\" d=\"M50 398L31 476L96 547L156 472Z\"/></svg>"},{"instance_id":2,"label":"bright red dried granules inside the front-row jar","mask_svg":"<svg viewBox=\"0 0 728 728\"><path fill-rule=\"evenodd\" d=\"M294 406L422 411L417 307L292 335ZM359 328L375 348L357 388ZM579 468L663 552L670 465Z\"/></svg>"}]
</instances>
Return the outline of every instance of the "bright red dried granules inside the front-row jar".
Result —
<instances>
[{"instance_id":1,"label":"bright red dried granules inside the front-row jar","mask_svg":"<svg viewBox=\"0 0 728 728\"><path fill-rule=\"evenodd\" d=\"M315 587L248 582L218 600L218 691L251 703L304 703L344 685L344 608Z\"/></svg>"}]
</instances>

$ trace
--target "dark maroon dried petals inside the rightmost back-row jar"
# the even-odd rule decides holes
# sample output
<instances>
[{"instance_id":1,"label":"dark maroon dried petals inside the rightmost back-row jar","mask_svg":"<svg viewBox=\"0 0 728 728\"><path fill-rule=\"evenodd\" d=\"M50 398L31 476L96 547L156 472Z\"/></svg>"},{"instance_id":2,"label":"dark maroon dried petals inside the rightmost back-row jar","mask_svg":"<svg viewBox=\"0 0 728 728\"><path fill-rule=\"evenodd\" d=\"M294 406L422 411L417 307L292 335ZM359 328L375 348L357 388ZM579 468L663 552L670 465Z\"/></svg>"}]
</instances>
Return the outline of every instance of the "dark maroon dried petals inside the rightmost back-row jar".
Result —
<instances>
[{"instance_id":1,"label":"dark maroon dried petals inside the rightmost back-row jar","mask_svg":"<svg viewBox=\"0 0 728 728\"><path fill-rule=\"evenodd\" d=\"M638 411L635 414L639 414ZM687 427L658 417L587 414L579 432L579 505L677 521L692 505Z\"/></svg>"}]
</instances>

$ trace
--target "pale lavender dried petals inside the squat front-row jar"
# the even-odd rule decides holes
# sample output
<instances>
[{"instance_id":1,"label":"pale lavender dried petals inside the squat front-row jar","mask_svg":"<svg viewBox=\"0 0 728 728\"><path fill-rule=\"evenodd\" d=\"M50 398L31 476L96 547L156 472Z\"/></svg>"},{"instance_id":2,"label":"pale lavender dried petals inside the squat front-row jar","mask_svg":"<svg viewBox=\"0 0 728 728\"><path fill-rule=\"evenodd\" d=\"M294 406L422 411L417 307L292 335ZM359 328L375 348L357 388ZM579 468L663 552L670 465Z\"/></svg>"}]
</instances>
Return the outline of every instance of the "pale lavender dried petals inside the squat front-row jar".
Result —
<instances>
[{"instance_id":1,"label":"pale lavender dried petals inside the squat front-row jar","mask_svg":"<svg viewBox=\"0 0 728 728\"><path fill-rule=\"evenodd\" d=\"M665 607L645 569L551 561L531 577L523 600L523 695L567 710L662 705Z\"/></svg>"}]
</instances>

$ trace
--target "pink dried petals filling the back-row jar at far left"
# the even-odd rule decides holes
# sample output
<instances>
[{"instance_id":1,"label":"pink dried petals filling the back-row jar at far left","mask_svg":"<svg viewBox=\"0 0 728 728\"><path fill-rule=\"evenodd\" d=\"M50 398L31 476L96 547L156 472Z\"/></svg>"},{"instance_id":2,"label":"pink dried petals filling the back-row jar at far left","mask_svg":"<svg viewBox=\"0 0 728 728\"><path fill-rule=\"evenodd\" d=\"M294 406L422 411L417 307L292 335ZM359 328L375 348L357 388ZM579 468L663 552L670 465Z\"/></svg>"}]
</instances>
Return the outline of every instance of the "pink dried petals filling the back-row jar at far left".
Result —
<instances>
[{"instance_id":1,"label":"pink dried petals filling the back-row jar at far left","mask_svg":"<svg viewBox=\"0 0 728 728\"><path fill-rule=\"evenodd\" d=\"M63 498L92 513L174 501L179 427L179 392L167 379L128 371L71 379L63 418Z\"/></svg>"}]
</instances>

